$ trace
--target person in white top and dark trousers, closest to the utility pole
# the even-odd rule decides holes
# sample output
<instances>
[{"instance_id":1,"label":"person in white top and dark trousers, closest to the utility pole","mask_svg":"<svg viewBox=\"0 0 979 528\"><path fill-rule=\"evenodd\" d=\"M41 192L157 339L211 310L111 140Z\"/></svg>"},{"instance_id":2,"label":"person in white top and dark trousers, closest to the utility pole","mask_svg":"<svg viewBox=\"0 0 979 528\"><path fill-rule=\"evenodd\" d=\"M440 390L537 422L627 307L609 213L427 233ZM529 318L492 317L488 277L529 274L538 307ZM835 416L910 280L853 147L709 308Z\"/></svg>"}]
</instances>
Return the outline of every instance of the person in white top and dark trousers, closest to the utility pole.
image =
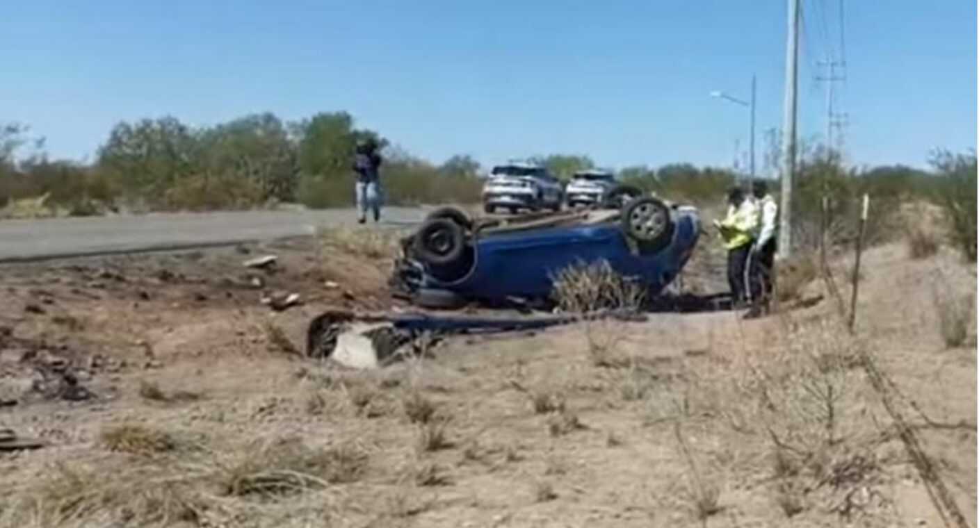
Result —
<instances>
[{"instance_id":1,"label":"person in white top and dark trousers, closest to the utility pole","mask_svg":"<svg viewBox=\"0 0 979 528\"><path fill-rule=\"evenodd\" d=\"M775 259L775 229L778 205L769 195L769 186L763 180L755 180L752 194L758 203L757 231L748 257L748 283L751 288L752 307L746 319L761 317L769 311L774 290L773 264Z\"/></svg>"}]
</instances>

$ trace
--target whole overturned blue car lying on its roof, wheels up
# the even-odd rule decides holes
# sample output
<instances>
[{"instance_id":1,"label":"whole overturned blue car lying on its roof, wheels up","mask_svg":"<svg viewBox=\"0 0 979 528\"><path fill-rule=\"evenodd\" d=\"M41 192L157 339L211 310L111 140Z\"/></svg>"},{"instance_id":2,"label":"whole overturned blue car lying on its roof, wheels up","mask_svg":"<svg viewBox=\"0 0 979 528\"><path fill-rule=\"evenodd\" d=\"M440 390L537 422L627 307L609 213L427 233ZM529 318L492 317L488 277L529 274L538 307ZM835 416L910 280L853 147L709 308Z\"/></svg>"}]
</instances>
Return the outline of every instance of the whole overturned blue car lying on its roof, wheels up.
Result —
<instances>
[{"instance_id":1,"label":"whole overturned blue car lying on its roof, wheels up","mask_svg":"<svg viewBox=\"0 0 979 528\"><path fill-rule=\"evenodd\" d=\"M594 207L521 218L470 218L443 207L401 241L391 286L426 308L549 304L563 269L605 260L658 295L700 237L696 208L620 189Z\"/></svg>"}]
</instances>

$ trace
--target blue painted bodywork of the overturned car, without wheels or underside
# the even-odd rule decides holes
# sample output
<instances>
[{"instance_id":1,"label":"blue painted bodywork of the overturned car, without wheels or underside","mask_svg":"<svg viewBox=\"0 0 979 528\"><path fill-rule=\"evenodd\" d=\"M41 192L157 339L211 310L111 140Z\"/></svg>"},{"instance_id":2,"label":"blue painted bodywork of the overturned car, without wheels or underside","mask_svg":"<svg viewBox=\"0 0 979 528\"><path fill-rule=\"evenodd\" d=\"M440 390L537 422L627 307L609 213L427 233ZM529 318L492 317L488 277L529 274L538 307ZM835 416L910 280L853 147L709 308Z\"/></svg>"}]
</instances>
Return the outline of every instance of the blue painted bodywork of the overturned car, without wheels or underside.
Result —
<instances>
[{"instance_id":1,"label":"blue painted bodywork of the overturned car, without wheels or underside","mask_svg":"<svg viewBox=\"0 0 979 528\"><path fill-rule=\"evenodd\" d=\"M544 298L553 278L576 263L606 260L619 274L658 294L682 270L700 236L693 208L672 211L672 240L658 251L643 253L629 247L618 223L553 227L479 238L467 270L424 266L421 284L446 289L467 298L504 300ZM441 278L441 279L440 279ZM446 280L451 278L450 280Z\"/></svg>"}]
</instances>

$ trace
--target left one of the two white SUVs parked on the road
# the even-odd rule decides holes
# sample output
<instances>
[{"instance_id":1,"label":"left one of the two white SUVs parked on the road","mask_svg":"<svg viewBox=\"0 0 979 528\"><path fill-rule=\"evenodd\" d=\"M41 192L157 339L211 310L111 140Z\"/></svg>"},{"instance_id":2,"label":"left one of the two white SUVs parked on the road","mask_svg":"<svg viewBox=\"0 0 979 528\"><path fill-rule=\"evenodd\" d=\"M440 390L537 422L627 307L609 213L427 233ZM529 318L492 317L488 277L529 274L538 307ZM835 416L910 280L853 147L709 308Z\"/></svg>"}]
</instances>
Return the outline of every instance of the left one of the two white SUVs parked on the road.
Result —
<instances>
[{"instance_id":1,"label":"left one of the two white SUVs parked on the road","mask_svg":"<svg viewBox=\"0 0 979 528\"><path fill-rule=\"evenodd\" d=\"M510 162L496 165L483 187L483 206L493 213L506 208L561 210L564 187L545 167L536 163Z\"/></svg>"}]
</instances>

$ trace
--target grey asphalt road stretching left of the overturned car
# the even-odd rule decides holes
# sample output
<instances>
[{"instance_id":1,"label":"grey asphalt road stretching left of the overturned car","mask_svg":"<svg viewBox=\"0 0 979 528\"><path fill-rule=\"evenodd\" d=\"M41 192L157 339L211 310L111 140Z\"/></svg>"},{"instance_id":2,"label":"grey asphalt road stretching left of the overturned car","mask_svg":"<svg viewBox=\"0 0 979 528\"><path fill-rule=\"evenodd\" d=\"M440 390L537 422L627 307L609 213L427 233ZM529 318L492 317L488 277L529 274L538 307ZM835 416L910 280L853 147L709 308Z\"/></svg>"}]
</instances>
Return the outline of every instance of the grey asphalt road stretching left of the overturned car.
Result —
<instances>
[{"instance_id":1,"label":"grey asphalt road stretching left of the overturned car","mask_svg":"<svg viewBox=\"0 0 979 528\"><path fill-rule=\"evenodd\" d=\"M423 209L388 207L378 227L411 225L424 213ZM3 220L0 262L269 241L355 223L352 208Z\"/></svg>"}]
</instances>

